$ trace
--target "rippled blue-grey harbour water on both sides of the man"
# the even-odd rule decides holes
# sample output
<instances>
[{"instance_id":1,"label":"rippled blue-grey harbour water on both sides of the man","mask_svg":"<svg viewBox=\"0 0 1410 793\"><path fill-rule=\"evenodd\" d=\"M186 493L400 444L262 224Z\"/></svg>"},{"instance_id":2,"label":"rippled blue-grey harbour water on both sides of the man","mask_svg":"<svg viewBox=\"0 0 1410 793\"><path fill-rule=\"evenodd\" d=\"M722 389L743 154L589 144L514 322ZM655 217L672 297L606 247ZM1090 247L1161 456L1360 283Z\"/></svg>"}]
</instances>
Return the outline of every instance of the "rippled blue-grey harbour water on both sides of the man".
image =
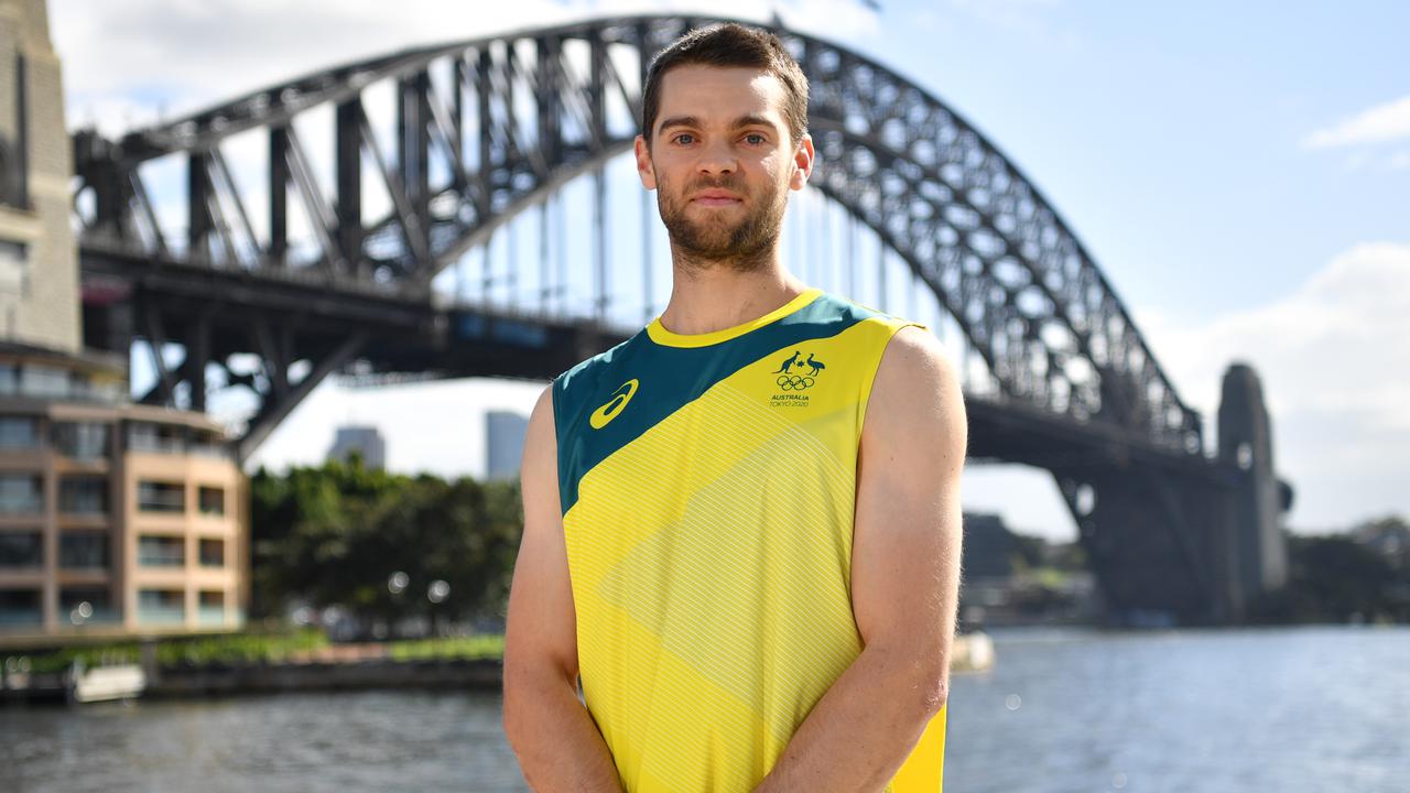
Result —
<instances>
[{"instance_id":1,"label":"rippled blue-grey harbour water on both sides of the man","mask_svg":"<svg viewBox=\"0 0 1410 793\"><path fill-rule=\"evenodd\" d=\"M952 679L949 793L1410 790L1410 626L1008 629ZM0 790L523 785L482 693L0 708Z\"/></svg>"}]
</instances>

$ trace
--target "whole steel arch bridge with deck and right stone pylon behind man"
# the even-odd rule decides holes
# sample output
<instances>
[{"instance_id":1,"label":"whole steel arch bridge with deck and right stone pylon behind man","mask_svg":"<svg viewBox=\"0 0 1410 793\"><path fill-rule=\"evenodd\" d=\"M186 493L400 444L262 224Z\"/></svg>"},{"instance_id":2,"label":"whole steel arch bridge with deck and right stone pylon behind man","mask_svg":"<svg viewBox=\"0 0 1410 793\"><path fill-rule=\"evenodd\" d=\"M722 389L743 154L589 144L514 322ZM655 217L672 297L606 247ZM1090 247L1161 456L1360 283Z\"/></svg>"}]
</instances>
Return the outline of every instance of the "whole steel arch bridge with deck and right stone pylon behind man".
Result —
<instances>
[{"instance_id":1,"label":"whole steel arch bridge with deck and right stone pylon behind man","mask_svg":"<svg viewBox=\"0 0 1410 793\"><path fill-rule=\"evenodd\" d=\"M154 351L142 402L251 396L241 459L329 375L557 375L664 308L654 206L612 169L650 58L708 21L419 47L118 140L76 133L85 343ZM891 313L931 306L966 375L971 457L1053 476L1115 618L1239 621L1282 583L1290 498L1253 373L1225 374L1207 444L1012 162L883 63L776 32L808 75L819 155L790 212L812 224L795 271Z\"/></svg>"}]
</instances>

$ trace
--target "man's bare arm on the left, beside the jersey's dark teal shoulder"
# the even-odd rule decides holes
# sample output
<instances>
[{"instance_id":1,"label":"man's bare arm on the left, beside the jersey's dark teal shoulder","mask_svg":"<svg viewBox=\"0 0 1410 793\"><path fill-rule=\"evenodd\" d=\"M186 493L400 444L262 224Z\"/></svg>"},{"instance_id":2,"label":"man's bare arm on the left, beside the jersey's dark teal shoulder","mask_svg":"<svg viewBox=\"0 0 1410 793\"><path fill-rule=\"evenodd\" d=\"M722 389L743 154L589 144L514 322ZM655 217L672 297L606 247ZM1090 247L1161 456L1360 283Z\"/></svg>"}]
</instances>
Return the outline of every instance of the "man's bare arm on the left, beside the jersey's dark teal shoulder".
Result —
<instances>
[{"instance_id":1,"label":"man's bare arm on the left, beside the jersey's dark teal shoulder","mask_svg":"<svg viewBox=\"0 0 1410 793\"><path fill-rule=\"evenodd\" d=\"M525 533L505 628L505 735L541 792L620 792L602 734L578 700L578 639L558 502L553 387L534 405L519 476Z\"/></svg>"}]
</instances>

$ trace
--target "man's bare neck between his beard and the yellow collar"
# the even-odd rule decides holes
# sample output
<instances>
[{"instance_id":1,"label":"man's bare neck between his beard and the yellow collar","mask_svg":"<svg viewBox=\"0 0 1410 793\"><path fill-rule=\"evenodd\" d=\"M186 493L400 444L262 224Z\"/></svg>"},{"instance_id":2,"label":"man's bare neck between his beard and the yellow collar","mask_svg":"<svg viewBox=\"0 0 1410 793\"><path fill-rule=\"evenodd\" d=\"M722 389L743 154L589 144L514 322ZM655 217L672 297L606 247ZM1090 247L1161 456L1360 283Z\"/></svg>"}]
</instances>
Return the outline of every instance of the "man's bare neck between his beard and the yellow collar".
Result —
<instances>
[{"instance_id":1,"label":"man's bare neck between his beard and the yellow collar","mask_svg":"<svg viewBox=\"0 0 1410 793\"><path fill-rule=\"evenodd\" d=\"M736 262L682 261L674 246L671 254L671 301L661 312L661 325L671 333L694 336L743 325L808 288L784 268L777 247L764 264L744 271Z\"/></svg>"}]
</instances>

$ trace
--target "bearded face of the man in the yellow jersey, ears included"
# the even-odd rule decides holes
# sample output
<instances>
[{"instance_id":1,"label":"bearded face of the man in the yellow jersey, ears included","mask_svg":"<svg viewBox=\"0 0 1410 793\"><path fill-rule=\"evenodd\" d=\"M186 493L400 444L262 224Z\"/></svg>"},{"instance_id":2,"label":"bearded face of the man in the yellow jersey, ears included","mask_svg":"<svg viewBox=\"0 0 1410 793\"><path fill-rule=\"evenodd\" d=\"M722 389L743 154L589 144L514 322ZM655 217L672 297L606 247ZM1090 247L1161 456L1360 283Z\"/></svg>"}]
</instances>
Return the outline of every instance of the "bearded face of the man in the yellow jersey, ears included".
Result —
<instances>
[{"instance_id":1,"label":"bearded face of the man in the yellow jersey, ears included","mask_svg":"<svg viewBox=\"0 0 1410 793\"><path fill-rule=\"evenodd\" d=\"M657 190L671 243L692 260L750 270L778 238L788 189L802 189L812 141L791 140L784 86L752 68L677 66L661 78L642 183Z\"/></svg>"}]
</instances>

